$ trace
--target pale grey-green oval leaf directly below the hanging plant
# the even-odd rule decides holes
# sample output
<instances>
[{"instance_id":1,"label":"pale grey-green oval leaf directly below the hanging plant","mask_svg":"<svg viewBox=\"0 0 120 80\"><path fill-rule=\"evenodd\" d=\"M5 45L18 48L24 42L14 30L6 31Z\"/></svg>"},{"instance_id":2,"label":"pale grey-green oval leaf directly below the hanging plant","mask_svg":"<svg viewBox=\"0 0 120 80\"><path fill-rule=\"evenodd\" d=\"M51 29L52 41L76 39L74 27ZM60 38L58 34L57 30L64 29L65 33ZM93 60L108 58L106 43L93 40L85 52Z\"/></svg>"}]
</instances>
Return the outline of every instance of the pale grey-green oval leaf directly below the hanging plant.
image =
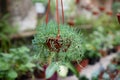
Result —
<instances>
[{"instance_id":1,"label":"pale grey-green oval leaf directly below the hanging plant","mask_svg":"<svg viewBox=\"0 0 120 80\"><path fill-rule=\"evenodd\" d=\"M46 75L46 79L49 79L50 77L52 77L52 75L55 73L55 71L57 71L58 69L58 65L56 63L51 63L45 72Z\"/></svg>"}]
</instances>

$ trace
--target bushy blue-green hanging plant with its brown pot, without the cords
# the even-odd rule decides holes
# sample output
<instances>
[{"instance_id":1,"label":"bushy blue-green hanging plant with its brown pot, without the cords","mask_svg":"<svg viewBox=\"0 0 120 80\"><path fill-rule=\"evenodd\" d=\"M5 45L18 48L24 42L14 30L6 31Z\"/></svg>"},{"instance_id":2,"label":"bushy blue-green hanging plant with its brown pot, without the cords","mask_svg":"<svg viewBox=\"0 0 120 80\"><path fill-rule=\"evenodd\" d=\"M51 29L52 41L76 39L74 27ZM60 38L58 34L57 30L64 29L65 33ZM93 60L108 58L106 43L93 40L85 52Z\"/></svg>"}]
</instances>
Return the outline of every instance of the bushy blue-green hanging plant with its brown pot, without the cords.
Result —
<instances>
[{"instance_id":1,"label":"bushy blue-green hanging plant with its brown pot, without the cords","mask_svg":"<svg viewBox=\"0 0 120 80\"><path fill-rule=\"evenodd\" d=\"M33 46L38 53L41 63L47 63L51 57L52 61L75 61L81 60L83 56L82 35L76 33L68 25L60 25L60 39L56 38L57 24L50 21L37 27Z\"/></svg>"}]
</instances>

